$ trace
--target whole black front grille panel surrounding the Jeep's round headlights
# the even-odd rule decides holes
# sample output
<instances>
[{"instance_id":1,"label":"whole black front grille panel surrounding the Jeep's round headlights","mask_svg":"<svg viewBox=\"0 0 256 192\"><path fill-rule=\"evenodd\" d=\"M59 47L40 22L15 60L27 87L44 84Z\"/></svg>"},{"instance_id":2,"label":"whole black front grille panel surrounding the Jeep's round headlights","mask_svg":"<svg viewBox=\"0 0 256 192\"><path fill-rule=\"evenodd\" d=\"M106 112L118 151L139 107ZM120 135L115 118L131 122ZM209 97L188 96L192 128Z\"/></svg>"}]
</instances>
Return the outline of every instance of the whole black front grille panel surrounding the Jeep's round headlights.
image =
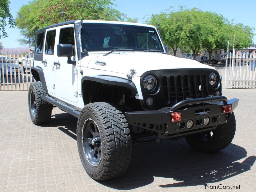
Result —
<instances>
[{"instance_id":1,"label":"whole black front grille panel surrounding the Jeep's round headlights","mask_svg":"<svg viewBox=\"0 0 256 192\"><path fill-rule=\"evenodd\" d=\"M214 88L210 86L208 81L211 72L215 72L219 79L218 86ZM158 89L151 93L147 93L143 89L143 79L147 75L153 75L157 80ZM216 91L219 91L221 95L220 76L214 69L198 68L148 71L141 77L141 87L144 99L141 101L141 104L145 110L170 107L186 98L196 99L211 95L215 96ZM148 106L146 103L148 97L154 100L152 106Z\"/></svg>"}]
</instances>

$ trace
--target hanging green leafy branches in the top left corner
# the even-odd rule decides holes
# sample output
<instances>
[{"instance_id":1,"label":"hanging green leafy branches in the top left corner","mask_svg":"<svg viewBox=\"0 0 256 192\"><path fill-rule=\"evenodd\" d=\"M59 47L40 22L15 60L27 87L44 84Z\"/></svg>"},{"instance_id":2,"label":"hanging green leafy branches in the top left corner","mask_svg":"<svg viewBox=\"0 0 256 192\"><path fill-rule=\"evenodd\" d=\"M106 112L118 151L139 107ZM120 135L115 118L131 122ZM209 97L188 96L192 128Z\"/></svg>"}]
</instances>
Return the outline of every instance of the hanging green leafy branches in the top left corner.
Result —
<instances>
[{"instance_id":1,"label":"hanging green leafy branches in the top left corner","mask_svg":"<svg viewBox=\"0 0 256 192\"><path fill-rule=\"evenodd\" d=\"M5 27L7 26L7 19L10 28L14 28L15 26L15 20L12 17L9 4L10 1L8 0L0 1L0 38L8 36L8 34L5 32Z\"/></svg>"}]
</instances>

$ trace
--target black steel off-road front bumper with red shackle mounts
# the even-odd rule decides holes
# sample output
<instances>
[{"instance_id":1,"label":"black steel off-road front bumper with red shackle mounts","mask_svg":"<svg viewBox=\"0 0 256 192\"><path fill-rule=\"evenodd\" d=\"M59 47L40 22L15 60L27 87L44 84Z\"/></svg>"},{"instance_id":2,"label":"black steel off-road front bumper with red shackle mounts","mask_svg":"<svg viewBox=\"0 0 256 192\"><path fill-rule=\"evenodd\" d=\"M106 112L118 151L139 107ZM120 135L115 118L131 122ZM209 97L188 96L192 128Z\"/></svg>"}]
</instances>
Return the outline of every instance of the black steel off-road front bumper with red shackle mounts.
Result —
<instances>
[{"instance_id":1,"label":"black steel off-road front bumper with red shackle mounts","mask_svg":"<svg viewBox=\"0 0 256 192\"><path fill-rule=\"evenodd\" d=\"M214 130L228 122L237 104L238 99L225 96L187 99L159 110L125 112L125 117L128 124L157 132L157 140L163 140Z\"/></svg>"}]
</instances>

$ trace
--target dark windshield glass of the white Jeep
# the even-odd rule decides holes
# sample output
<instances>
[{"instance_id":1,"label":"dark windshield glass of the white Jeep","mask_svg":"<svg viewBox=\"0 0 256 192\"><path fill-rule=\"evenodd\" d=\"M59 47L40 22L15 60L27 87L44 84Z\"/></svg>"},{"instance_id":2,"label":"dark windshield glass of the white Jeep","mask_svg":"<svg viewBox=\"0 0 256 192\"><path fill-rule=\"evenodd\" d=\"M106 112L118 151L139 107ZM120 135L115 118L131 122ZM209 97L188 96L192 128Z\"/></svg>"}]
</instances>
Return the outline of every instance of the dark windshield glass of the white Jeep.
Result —
<instances>
[{"instance_id":1,"label":"dark windshield glass of the white Jeep","mask_svg":"<svg viewBox=\"0 0 256 192\"><path fill-rule=\"evenodd\" d=\"M134 25L83 23L81 44L83 52L119 48L164 52L154 28Z\"/></svg>"}]
</instances>

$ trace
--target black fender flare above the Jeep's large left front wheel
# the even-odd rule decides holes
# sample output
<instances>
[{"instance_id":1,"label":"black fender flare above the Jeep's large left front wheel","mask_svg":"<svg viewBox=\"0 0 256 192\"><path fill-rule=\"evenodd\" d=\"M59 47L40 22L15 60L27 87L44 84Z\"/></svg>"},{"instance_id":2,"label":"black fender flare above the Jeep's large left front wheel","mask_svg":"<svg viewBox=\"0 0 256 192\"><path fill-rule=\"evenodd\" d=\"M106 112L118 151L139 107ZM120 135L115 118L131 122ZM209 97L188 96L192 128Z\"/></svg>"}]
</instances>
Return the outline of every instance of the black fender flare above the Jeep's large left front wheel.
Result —
<instances>
[{"instance_id":1,"label":"black fender flare above the Jeep's large left front wheel","mask_svg":"<svg viewBox=\"0 0 256 192\"><path fill-rule=\"evenodd\" d=\"M102 84L125 87L125 88L128 88L131 90L133 96L138 96L138 92L137 92L137 88L136 88L135 84L131 80L125 79L122 77L105 76L105 75L84 76L81 79L81 93L82 94L83 94L83 82L84 81L93 81L93 82L98 82L98 83L102 83Z\"/></svg>"}]
</instances>

